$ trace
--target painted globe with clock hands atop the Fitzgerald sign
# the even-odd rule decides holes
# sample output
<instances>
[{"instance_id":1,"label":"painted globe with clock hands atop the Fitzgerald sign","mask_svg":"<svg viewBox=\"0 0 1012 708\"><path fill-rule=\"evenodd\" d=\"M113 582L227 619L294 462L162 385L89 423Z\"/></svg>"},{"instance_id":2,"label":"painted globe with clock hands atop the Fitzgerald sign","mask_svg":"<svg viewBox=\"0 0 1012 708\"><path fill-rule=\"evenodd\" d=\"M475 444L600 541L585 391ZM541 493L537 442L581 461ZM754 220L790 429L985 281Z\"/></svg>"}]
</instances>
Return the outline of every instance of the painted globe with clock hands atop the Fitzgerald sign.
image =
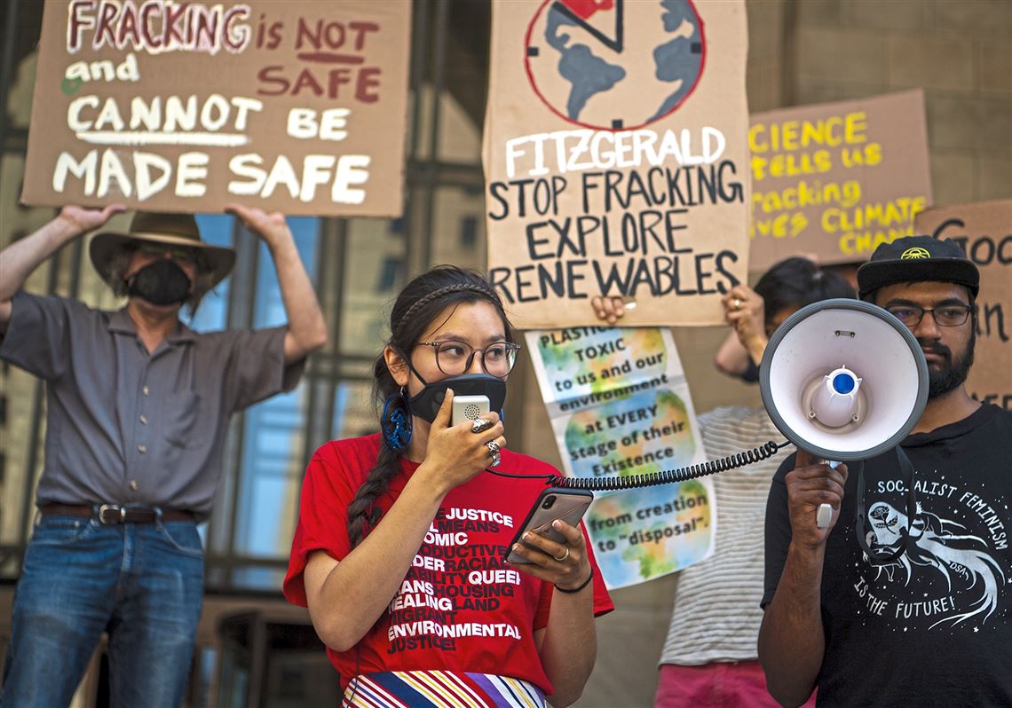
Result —
<instances>
[{"instance_id":1,"label":"painted globe with clock hands atop the Fitzgerald sign","mask_svg":"<svg viewBox=\"0 0 1012 708\"><path fill-rule=\"evenodd\" d=\"M643 127L677 110L706 55L690 0L545 0L524 45L538 98L565 120L603 130Z\"/></svg>"}]
</instances>

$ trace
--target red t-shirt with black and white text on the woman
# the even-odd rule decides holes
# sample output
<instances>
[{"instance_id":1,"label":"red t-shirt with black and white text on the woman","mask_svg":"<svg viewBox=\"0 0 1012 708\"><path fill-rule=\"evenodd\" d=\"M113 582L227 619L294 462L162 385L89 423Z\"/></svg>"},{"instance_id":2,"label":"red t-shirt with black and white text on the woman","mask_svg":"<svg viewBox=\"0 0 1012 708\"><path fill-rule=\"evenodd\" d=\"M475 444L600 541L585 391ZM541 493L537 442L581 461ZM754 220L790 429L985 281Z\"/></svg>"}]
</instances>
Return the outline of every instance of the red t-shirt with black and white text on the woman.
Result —
<instances>
[{"instance_id":1,"label":"red t-shirt with black and white text on the woman","mask_svg":"<svg viewBox=\"0 0 1012 708\"><path fill-rule=\"evenodd\" d=\"M299 526L291 544L284 597L306 606L303 571L314 550L337 560L351 550L347 506L375 466L380 436L326 443L306 470ZM376 504L385 513L418 464L402 458L401 473ZM557 474L550 464L503 450L498 469ZM509 676L552 693L534 644L549 621L553 586L506 564L506 547L523 523L543 478L483 472L451 490L387 612L357 649L327 655L342 687L356 673L444 670ZM586 537L586 530L584 530ZM587 540L594 567L594 614L613 609ZM360 650L360 651L359 651Z\"/></svg>"}]
</instances>

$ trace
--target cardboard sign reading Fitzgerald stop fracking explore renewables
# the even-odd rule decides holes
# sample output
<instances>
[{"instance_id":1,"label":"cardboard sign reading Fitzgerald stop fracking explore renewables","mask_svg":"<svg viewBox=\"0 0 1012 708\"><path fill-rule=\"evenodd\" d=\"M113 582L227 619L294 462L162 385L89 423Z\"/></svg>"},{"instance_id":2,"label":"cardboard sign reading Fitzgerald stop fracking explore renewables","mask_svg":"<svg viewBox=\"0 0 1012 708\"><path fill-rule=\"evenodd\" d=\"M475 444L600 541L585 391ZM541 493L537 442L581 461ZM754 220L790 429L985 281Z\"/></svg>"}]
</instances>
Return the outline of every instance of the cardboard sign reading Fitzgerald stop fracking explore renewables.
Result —
<instances>
[{"instance_id":1,"label":"cardboard sign reading Fitzgerald stop fracking explore renewables","mask_svg":"<svg viewBox=\"0 0 1012 708\"><path fill-rule=\"evenodd\" d=\"M494 0L489 277L520 328L712 325L746 280L740 0Z\"/></svg>"}]
</instances>

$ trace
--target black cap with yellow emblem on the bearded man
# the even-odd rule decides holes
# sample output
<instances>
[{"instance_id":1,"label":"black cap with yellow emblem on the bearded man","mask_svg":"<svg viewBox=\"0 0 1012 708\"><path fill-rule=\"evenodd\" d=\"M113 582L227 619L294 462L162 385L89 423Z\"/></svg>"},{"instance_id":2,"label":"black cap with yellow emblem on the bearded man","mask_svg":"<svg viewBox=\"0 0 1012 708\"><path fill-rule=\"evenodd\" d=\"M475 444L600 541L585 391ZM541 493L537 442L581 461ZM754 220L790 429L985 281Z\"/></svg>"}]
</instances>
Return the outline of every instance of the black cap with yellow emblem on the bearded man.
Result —
<instances>
[{"instance_id":1,"label":"black cap with yellow emblem on the bearded man","mask_svg":"<svg viewBox=\"0 0 1012 708\"><path fill-rule=\"evenodd\" d=\"M880 244L871 259L857 269L857 296L865 299L883 285L934 280L981 289L981 271L951 239L908 236Z\"/></svg>"}]
</instances>

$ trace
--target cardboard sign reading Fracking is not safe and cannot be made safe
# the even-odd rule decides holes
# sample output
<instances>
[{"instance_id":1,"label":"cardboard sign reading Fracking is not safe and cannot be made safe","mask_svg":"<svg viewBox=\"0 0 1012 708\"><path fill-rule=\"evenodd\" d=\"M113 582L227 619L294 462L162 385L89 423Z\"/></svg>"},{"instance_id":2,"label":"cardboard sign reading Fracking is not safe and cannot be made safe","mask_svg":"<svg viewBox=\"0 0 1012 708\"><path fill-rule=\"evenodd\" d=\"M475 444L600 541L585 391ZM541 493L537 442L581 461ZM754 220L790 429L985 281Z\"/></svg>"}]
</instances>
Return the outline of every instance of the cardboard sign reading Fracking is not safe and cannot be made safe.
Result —
<instances>
[{"instance_id":1,"label":"cardboard sign reading Fracking is not safe and cannot be made safe","mask_svg":"<svg viewBox=\"0 0 1012 708\"><path fill-rule=\"evenodd\" d=\"M47 0L22 199L402 210L408 0Z\"/></svg>"}]
</instances>

